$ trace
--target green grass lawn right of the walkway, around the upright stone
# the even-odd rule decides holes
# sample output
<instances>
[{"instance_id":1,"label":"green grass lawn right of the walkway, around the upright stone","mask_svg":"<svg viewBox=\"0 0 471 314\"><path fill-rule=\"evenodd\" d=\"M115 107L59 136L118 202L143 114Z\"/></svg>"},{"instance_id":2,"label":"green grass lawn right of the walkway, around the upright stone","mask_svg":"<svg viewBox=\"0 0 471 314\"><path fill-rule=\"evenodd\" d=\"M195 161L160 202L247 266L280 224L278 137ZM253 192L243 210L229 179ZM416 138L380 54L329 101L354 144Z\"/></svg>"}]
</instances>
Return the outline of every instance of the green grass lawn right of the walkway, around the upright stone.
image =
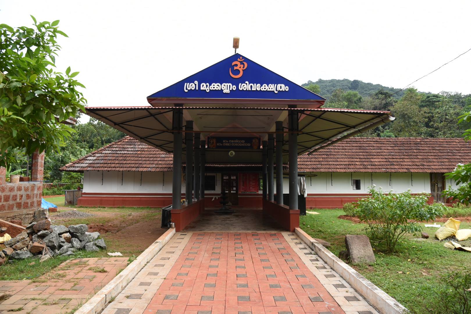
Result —
<instances>
[{"instance_id":1,"label":"green grass lawn right of the walkway, around the upright stone","mask_svg":"<svg viewBox=\"0 0 471 314\"><path fill-rule=\"evenodd\" d=\"M365 224L337 218L345 214L341 209L313 210L320 214L301 216L301 229L313 238L330 242L332 246L329 250L337 256L339 251L346 250L346 234L365 234ZM471 228L471 224L462 222L460 229L464 228ZM439 242L434 238L436 230L424 227L423 231L430 235L426 240L413 236L403 238L395 254L384 254L380 247L372 243L376 263L353 267L402 305L407 308L417 306L417 300L434 297L433 288L440 285L440 275L471 266L471 253L445 248L443 243L446 241ZM471 246L471 240L460 243ZM420 306L414 310L416 313L425 313L421 312Z\"/></svg>"}]
</instances>

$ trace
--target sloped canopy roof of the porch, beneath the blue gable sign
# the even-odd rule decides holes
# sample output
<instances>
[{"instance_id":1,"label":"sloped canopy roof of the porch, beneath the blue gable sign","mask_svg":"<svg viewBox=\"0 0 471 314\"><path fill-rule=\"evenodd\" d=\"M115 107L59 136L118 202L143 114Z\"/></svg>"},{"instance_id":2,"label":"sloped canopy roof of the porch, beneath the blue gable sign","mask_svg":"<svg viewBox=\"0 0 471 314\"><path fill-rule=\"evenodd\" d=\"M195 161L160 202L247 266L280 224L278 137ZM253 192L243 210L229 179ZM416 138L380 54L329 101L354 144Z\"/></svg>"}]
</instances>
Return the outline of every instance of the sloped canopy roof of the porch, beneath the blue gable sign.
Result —
<instances>
[{"instance_id":1,"label":"sloped canopy roof of the porch, beneath the blue gable sign","mask_svg":"<svg viewBox=\"0 0 471 314\"><path fill-rule=\"evenodd\" d=\"M245 133L266 139L275 131L275 121L284 120L285 108L184 107L185 120L194 121L194 129L207 136L234 136ZM162 151L173 152L173 107L87 107L87 113L122 132ZM345 136L353 136L394 118L383 111L351 109L290 109L299 116L298 154ZM284 127L287 128L287 122ZM284 135L284 162L288 161L288 134ZM183 143L183 149L186 145ZM229 160L227 150L207 150L207 161L232 163L261 162L261 150L240 150Z\"/></svg>"}]
</instances>

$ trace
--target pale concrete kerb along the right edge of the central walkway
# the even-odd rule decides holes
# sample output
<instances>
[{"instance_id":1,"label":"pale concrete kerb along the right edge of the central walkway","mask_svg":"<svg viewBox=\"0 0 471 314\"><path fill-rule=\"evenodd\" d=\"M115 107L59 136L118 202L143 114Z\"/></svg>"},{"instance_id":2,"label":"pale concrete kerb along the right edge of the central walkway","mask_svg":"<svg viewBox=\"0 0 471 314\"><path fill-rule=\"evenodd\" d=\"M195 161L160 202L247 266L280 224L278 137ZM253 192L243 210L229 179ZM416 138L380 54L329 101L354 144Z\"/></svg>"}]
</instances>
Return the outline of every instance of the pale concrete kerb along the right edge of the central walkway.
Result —
<instances>
[{"instance_id":1,"label":"pale concrete kerb along the right edge of the central walkway","mask_svg":"<svg viewBox=\"0 0 471 314\"><path fill-rule=\"evenodd\" d=\"M309 234L302 231L300 228L295 228L294 232L306 242L309 247L316 252L337 274L341 275L358 293L360 293L371 305L382 314L404 314L409 311L391 298L389 294L378 288L368 279L359 274L355 269L348 266L340 258L333 255L319 242L309 236Z\"/></svg>"}]
</instances>

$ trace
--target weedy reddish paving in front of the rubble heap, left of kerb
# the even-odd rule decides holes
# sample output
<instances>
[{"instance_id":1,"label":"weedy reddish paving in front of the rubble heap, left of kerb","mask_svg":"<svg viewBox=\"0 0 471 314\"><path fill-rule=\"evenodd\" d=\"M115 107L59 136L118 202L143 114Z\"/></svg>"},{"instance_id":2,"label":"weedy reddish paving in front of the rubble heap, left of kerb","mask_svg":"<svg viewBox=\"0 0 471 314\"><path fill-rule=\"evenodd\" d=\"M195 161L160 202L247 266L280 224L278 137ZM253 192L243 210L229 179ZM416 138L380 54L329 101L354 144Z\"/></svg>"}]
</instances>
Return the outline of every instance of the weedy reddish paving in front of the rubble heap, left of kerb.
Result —
<instances>
[{"instance_id":1,"label":"weedy reddish paving in front of the rubble heap, left of kerb","mask_svg":"<svg viewBox=\"0 0 471 314\"><path fill-rule=\"evenodd\" d=\"M75 258L31 280L0 281L0 313L73 313L127 266L128 258Z\"/></svg>"}]
</instances>

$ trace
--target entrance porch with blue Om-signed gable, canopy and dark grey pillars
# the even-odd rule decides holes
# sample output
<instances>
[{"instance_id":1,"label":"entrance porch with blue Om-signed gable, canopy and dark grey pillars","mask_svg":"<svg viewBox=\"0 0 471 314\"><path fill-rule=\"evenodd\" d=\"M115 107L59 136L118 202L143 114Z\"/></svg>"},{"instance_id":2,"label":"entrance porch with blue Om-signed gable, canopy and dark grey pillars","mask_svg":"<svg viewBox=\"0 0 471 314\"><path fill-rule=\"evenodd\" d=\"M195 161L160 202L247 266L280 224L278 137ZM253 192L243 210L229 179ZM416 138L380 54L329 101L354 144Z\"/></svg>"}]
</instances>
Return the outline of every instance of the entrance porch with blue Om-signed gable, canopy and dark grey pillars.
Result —
<instances>
[{"instance_id":1,"label":"entrance porch with blue Om-signed gable, canopy and dark grey pillars","mask_svg":"<svg viewBox=\"0 0 471 314\"><path fill-rule=\"evenodd\" d=\"M211 197L218 193L209 190L214 183L207 175L211 167L226 169L220 172L219 191L228 202L245 209L262 208L262 217L293 231L300 213L298 156L394 120L382 111L321 108L323 97L240 54L150 95L147 101L149 106L86 110L140 142L171 153L171 217L177 231L198 216L205 217L206 208L219 205ZM232 171L235 168L243 170ZM288 205L284 193L289 194ZM218 225L220 217L206 222ZM247 217L234 219L238 230Z\"/></svg>"}]
</instances>

